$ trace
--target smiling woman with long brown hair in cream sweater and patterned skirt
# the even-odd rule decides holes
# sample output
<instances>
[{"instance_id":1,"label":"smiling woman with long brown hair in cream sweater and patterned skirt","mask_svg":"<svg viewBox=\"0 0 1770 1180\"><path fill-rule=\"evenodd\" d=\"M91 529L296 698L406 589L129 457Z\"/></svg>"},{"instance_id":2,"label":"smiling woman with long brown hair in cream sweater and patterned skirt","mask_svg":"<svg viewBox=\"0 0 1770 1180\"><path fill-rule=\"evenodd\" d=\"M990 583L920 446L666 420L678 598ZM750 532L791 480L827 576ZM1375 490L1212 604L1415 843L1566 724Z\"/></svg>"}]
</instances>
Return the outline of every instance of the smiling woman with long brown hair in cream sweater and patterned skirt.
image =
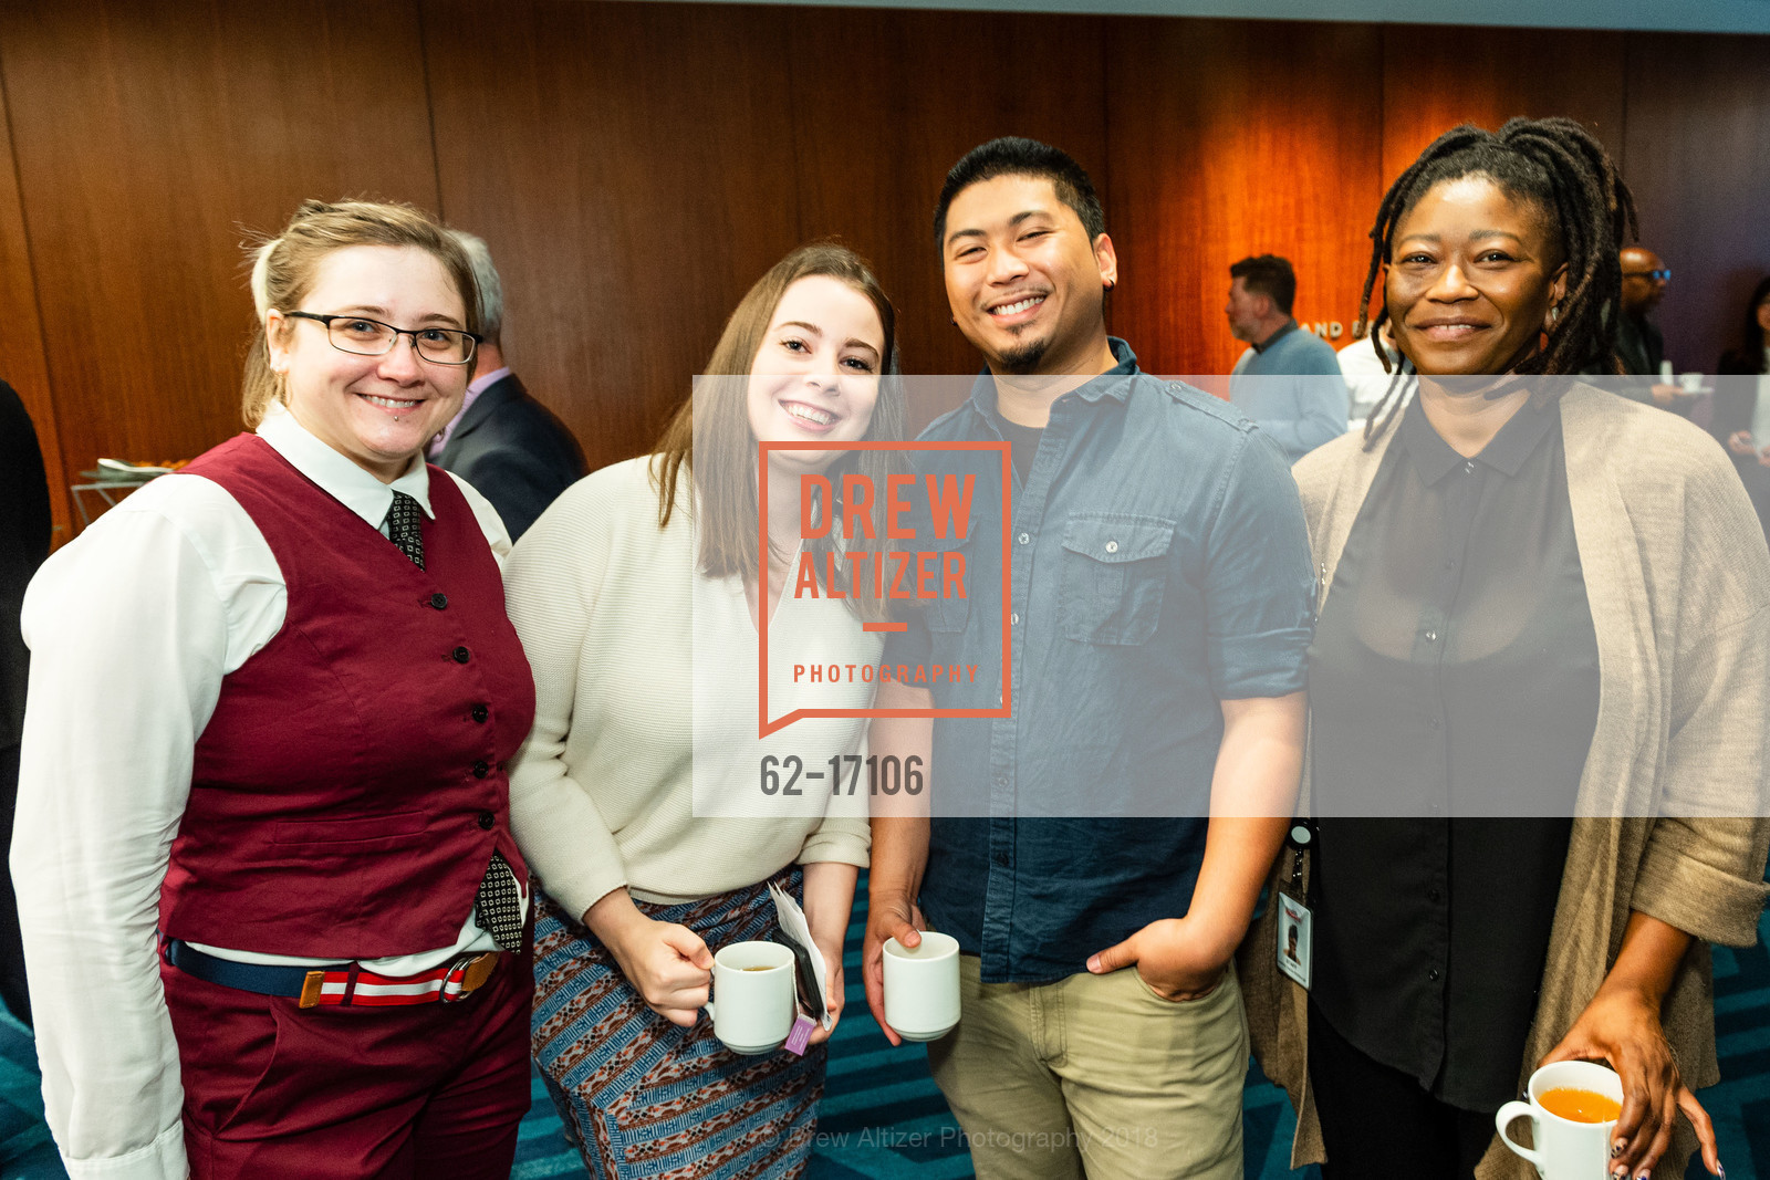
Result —
<instances>
[{"instance_id":1,"label":"smiling woman with long brown hair in cream sweater and patterned skirt","mask_svg":"<svg viewBox=\"0 0 1770 1180\"><path fill-rule=\"evenodd\" d=\"M811 1155L828 1030L804 1056L745 1056L701 1005L722 946L777 932L777 885L804 899L841 1014L867 796L832 798L821 768L858 770L881 649L862 621L885 603L841 575L848 598L823 593L835 587L821 573L802 593L796 557L827 571L835 556L827 540L802 548L802 520L843 508L807 502L802 517L802 478L837 495L848 474L887 487L887 451L825 446L903 437L894 372L892 306L866 264L834 244L795 249L731 313L657 449L568 488L512 554L510 617L538 697L512 771L517 839L545 881L535 1058L593 1176L788 1176ZM758 442L818 449L759 464ZM883 536L839 547L876 557ZM761 621L768 711L839 716L758 738ZM867 676L805 688L795 660Z\"/></svg>"}]
</instances>

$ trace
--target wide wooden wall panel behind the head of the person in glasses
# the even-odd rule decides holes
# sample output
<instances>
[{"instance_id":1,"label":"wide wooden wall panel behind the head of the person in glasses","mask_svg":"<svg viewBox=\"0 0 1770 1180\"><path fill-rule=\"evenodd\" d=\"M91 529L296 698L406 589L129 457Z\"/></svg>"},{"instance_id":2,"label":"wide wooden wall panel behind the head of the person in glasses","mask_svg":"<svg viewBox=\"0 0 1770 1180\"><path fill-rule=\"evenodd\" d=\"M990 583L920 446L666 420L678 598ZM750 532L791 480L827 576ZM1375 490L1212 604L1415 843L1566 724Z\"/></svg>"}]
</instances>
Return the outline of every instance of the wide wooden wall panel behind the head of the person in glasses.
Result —
<instances>
[{"instance_id":1,"label":"wide wooden wall panel behind the head of the person in glasses","mask_svg":"<svg viewBox=\"0 0 1770 1180\"><path fill-rule=\"evenodd\" d=\"M0 69L69 479L239 430L244 230L435 205L411 5L9 0Z\"/></svg>"}]
</instances>

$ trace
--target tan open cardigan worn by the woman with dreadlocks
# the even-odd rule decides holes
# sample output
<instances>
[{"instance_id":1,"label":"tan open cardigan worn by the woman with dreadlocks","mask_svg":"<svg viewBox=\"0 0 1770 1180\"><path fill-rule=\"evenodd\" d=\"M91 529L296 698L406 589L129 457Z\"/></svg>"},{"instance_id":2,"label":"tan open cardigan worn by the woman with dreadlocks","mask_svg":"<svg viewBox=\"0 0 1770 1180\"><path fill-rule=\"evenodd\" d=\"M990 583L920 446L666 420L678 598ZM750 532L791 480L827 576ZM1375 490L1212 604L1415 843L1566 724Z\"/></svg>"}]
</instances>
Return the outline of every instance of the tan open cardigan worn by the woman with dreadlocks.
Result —
<instances>
[{"instance_id":1,"label":"tan open cardigan worn by the woman with dreadlocks","mask_svg":"<svg viewBox=\"0 0 1770 1180\"><path fill-rule=\"evenodd\" d=\"M1598 725L1519 1079L1597 994L1639 909L1701 939L1664 1008L1694 1090L1720 1079L1706 943L1752 945L1770 893L1770 552L1733 465L1690 423L1574 386L1561 425L1598 635ZM1292 469L1324 596L1395 433L1368 451L1351 433ZM1289 876L1290 858L1280 862ZM1243 991L1255 1056L1297 1109L1290 1166L1301 1168L1322 1159L1320 1122L1308 1088L1306 996L1278 973L1274 909L1243 943ZM1657 1173L1682 1176L1694 1145L1680 1122ZM1535 1180L1535 1169L1496 1139L1476 1176Z\"/></svg>"}]
</instances>

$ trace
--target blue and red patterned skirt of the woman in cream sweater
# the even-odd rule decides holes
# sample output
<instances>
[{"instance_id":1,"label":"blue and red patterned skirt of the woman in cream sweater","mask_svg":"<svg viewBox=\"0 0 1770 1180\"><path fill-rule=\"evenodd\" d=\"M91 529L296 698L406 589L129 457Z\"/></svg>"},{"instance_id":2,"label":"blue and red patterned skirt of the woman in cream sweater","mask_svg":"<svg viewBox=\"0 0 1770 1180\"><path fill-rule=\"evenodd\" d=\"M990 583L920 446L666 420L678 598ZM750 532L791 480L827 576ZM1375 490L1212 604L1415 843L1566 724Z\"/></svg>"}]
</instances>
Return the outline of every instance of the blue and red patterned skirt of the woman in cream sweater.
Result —
<instances>
[{"instance_id":1,"label":"blue and red patterned skirt of the woman in cream sweater","mask_svg":"<svg viewBox=\"0 0 1770 1180\"><path fill-rule=\"evenodd\" d=\"M775 877L795 897L802 872ZM768 883L681 906L634 902L717 952L775 929ZM543 893L535 922L535 1060L593 1176L796 1176L811 1157L825 1049L738 1056L701 1014L694 1028L646 1007L609 950Z\"/></svg>"}]
</instances>

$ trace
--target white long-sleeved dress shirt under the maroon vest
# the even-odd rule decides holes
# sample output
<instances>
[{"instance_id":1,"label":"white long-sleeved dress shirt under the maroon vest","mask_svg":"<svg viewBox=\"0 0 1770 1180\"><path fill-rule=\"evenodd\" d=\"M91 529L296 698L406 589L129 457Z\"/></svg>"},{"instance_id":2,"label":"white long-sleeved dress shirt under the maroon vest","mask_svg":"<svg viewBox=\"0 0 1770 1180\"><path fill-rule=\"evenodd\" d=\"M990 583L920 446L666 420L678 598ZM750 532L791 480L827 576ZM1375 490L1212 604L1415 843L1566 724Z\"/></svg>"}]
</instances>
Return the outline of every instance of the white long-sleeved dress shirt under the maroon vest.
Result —
<instances>
[{"instance_id":1,"label":"white long-sleeved dress shirt under the maroon vest","mask_svg":"<svg viewBox=\"0 0 1770 1180\"><path fill-rule=\"evenodd\" d=\"M435 517L423 464L381 483L281 410L258 435L382 531L393 492ZM503 564L510 538L497 511L451 478ZM73 1180L188 1175L179 1049L156 957L159 886L221 678L276 637L287 598L246 510L186 474L161 476L104 513L25 594L32 669L12 879L44 1113ZM496 945L469 909L455 945L365 966L411 975L481 948Z\"/></svg>"}]
</instances>

